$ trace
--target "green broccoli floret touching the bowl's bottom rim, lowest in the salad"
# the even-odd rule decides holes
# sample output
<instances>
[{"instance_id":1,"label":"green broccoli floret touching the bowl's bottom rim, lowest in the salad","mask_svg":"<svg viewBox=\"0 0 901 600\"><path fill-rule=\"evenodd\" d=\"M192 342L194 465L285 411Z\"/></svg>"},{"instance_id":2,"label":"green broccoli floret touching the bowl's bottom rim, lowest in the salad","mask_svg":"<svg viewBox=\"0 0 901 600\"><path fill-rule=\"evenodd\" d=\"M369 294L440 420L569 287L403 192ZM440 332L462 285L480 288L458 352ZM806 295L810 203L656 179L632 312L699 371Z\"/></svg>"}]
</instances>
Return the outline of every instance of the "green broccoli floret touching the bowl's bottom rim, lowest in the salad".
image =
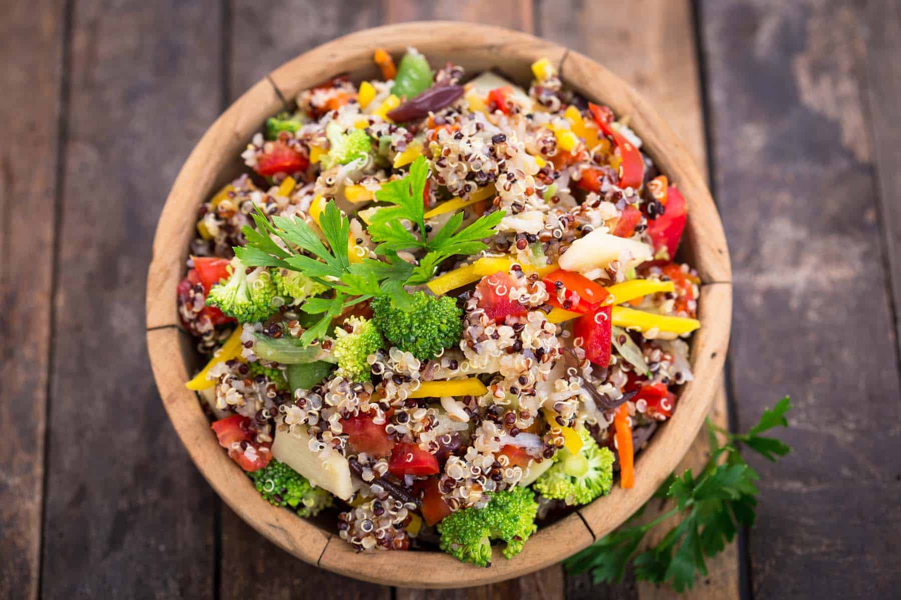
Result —
<instances>
[{"instance_id":1,"label":"green broccoli floret touching the bowl's bottom rim, lowest in the salad","mask_svg":"<svg viewBox=\"0 0 901 600\"><path fill-rule=\"evenodd\" d=\"M538 530L538 503L529 488L515 487L492 494L485 508L451 513L438 524L441 550L480 567L491 565L491 540L506 542L504 557L513 558Z\"/></svg>"}]
</instances>

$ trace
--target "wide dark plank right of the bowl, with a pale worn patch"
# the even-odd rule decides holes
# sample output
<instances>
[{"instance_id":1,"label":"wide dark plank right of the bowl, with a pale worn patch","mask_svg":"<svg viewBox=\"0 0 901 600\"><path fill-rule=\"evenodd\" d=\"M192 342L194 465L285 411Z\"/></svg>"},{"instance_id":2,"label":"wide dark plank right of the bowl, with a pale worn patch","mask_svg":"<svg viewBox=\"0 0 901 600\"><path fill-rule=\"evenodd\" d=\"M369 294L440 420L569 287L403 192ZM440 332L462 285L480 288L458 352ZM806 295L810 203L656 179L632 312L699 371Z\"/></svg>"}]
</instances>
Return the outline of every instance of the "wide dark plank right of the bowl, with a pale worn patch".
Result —
<instances>
[{"instance_id":1,"label":"wide dark plank right of the bowl, with a pale worn patch","mask_svg":"<svg viewBox=\"0 0 901 600\"><path fill-rule=\"evenodd\" d=\"M786 393L795 404L780 432L793 452L778 465L748 457L761 476L754 595L897 596L901 392L860 11L716 0L701 17L739 428Z\"/></svg>"}]
</instances>

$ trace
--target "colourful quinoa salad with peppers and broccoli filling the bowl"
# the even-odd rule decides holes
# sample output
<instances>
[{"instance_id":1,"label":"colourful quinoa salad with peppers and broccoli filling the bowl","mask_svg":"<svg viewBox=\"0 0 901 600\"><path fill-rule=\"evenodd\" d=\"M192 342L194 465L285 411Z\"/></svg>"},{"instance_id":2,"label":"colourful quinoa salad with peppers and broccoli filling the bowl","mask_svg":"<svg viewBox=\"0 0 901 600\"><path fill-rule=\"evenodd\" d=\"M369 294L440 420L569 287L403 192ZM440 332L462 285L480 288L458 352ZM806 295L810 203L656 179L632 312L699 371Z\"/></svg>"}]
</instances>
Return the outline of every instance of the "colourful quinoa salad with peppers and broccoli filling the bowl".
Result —
<instances>
[{"instance_id":1,"label":"colourful quinoa salad with peppers and broccoli filling the bowl","mask_svg":"<svg viewBox=\"0 0 901 600\"><path fill-rule=\"evenodd\" d=\"M373 57L268 119L198 210L187 382L259 494L357 551L487 567L632 488L692 379L678 182L561 85ZM395 62L396 60L396 62Z\"/></svg>"}]
</instances>

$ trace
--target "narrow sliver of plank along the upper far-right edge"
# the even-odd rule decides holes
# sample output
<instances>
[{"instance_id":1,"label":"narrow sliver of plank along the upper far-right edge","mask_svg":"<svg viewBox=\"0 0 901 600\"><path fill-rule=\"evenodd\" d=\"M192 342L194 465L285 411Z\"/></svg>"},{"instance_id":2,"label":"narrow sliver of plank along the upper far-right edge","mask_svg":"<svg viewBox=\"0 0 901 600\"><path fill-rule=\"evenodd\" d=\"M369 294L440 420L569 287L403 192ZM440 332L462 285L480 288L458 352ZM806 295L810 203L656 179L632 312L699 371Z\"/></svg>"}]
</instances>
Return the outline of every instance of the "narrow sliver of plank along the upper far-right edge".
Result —
<instances>
[{"instance_id":1,"label":"narrow sliver of plank along the upper far-right edge","mask_svg":"<svg viewBox=\"0 0 901 600\"><path fill-rule=\"evenodd\" d=\"M895 340L901 354L901 4L867 4L867 88L869 130L878 182L878 206L885 231L895 307Z\"/></svg>"}]
</instances>

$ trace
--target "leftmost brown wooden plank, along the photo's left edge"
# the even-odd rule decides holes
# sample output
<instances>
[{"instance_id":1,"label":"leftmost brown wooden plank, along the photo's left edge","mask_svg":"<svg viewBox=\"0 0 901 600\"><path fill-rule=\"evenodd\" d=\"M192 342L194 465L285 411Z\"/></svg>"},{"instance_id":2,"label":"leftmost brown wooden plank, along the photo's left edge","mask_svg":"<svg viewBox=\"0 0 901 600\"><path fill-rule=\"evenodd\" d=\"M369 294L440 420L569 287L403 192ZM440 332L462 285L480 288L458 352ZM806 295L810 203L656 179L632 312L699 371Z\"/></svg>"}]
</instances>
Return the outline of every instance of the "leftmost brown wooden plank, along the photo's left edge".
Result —
<instances>
[{"instance_id":1,"label":"leftmost brown wooden plank, along the photo's left edge","mask_svg":"<svg viewBox=\"0 0 901 600\"><path fill-rule=\"evenodd\" d=\"M39 589L63 21L53 2L0 19L0 123L27 140L0 150L0 598Z\"/></svg>"}]
</instances>

